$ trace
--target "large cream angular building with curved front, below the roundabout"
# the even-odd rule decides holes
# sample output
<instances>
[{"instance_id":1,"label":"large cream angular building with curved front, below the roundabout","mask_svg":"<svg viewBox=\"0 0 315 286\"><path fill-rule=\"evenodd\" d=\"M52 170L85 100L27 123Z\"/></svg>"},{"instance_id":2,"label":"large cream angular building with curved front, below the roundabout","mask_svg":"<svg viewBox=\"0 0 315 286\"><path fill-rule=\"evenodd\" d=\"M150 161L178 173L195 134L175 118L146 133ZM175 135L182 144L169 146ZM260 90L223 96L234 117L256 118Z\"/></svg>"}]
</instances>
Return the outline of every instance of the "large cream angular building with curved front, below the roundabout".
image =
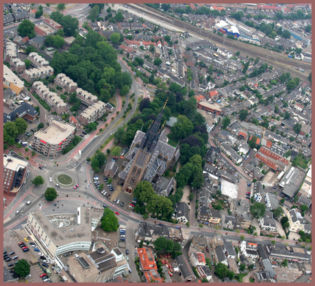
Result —
<instances>
[{"instance_id":1,"label":"large cream angular building with curved front, below the roundabout","mask_svg":"<svg viewBox=\"0 0 315 286\"><path fill-rule=\"evenodd\" d=\"M103 209L79 206L75 213L45 215L41 210L32 211L27 217L26 228L31 239L50 261L57 255L75 250L88 251L92 231L103 216Z\"/></svg>"}]
</instances>

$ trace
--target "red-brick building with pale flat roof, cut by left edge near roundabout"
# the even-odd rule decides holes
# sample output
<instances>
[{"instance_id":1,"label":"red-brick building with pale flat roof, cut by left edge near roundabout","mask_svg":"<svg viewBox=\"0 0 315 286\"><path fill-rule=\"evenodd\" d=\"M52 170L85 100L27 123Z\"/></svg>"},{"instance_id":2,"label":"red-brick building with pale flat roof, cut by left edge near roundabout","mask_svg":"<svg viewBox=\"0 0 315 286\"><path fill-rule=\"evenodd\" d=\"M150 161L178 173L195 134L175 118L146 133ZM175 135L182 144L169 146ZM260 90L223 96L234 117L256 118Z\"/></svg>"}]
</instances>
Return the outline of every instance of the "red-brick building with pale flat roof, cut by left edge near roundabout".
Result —
<instances>
[{"instance_id":1,"label":"red-brick building with pale flat roof, cut by left edge near roundabout","mask_svg":"<svg viewBox=\"0 0 315 286\"><path fill-rule=\"evenodd\" d=\"M3 193L16 195L27 178L28 161L14 151L3 156Z\"/></svg>"}]
</instances>

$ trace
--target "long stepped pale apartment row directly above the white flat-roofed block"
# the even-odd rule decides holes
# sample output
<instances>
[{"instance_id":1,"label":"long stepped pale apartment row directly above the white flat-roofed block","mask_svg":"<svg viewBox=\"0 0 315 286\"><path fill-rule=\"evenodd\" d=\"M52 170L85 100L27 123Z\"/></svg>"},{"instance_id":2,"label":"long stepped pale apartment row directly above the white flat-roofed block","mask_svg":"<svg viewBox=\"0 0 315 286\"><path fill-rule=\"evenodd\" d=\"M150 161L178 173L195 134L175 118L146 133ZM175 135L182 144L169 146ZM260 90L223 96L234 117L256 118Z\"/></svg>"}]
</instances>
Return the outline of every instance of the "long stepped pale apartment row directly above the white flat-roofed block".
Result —
<instances>
[{"instance_id":1,"label":"long stepped pale apartment row directly above the white flat-roofed block","mask_svg":"<svg viewBox=\"0 0 315 286\"><path fill-rule=\"evenodd\" d=\"M57 112L58 115L63 115L68 111L68 106L57 93L49 91L49 88L42 82L34 82L32 91L35 91L41 99L45 100L51 106L51 112Z\"/></svg>"}]
</instances>

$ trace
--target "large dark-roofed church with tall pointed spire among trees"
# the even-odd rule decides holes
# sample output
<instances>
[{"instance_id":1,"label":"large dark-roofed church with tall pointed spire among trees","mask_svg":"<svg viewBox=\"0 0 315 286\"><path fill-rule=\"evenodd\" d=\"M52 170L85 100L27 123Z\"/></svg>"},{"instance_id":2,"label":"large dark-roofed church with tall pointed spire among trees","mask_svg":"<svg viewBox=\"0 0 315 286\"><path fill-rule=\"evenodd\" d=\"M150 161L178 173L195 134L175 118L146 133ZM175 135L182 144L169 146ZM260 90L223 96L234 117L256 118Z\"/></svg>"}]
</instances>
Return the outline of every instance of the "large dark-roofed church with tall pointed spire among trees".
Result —
<instances>
[{"instance_id":1,"label":"large dark-roofed church with tall pointed spire among trees","mask_svg":"<svg viewBox=\"0 0 315 286\"><path fill-rule=\"evenodd\" d=\"M125 168L118 174L117 184L123 186L122 191L131 194L138 182L142 180L151 182L155 189L162 179L163 173L175 166L179 158L179 148L178 146L172 147L167 143L164 124L161 126L164 108L146 133L141 130L136 132L134 141L125 157L127 160L123 163ZM173 182L173 178L171 181ZM163 184L168 188L166 191L166 195L168 195L173 185L171 183Z\"/></svg>"}]
</instances>

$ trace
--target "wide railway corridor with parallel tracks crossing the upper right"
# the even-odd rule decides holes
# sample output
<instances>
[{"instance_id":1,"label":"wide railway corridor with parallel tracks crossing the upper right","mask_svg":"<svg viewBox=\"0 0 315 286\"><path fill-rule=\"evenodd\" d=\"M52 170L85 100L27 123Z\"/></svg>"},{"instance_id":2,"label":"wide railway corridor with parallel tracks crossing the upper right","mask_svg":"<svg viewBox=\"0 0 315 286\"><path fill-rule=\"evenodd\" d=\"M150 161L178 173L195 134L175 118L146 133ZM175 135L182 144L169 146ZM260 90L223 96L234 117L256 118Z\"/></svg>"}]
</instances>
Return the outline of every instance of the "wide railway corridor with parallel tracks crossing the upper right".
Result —
<instances>
[{"instance_id":1,"label":"wide railway corridor with parallel tracks crossing the upper right","mask_svg":"<svg viewBox=\"0 0 315 286\"><path fill-rule=\"evenodd\" d=\"M231 49L231 51L234 52L240 51L240 53L249 56L249 58L260 57L260 60L262 60L263 62L267 62L268 64L273 65L273 67L279 67L280 69L283 69L283 71L290 72L292 77L303 78L304 80L306 80L308 73L310 73L310 71L312 70L312 64L309 62L301 62L299 60L294 60L292 58L286 58L286 56L284 56L281 53L277 53L276 51L270 51L262 47L256 47L253 45L249 45L247 43L242 43L223 36L219 36L217 34L214 34L213 32L207 31L200 27L196 27L194 25L191 25L190 23L181 21L173 16L164 14L163 12L157 11L144 4L129 5L132 6L134 9L138 10L139 12L149 14L155 19L164 21L165 23L169 23L181 29L186 29L188 32L195 34L196 36L200 36L201 38L207 38L218 46L227 47L228 49ZM305 73L291 69L290 67L292 66L304 69Z\"/></svg>"}]
</instances>

